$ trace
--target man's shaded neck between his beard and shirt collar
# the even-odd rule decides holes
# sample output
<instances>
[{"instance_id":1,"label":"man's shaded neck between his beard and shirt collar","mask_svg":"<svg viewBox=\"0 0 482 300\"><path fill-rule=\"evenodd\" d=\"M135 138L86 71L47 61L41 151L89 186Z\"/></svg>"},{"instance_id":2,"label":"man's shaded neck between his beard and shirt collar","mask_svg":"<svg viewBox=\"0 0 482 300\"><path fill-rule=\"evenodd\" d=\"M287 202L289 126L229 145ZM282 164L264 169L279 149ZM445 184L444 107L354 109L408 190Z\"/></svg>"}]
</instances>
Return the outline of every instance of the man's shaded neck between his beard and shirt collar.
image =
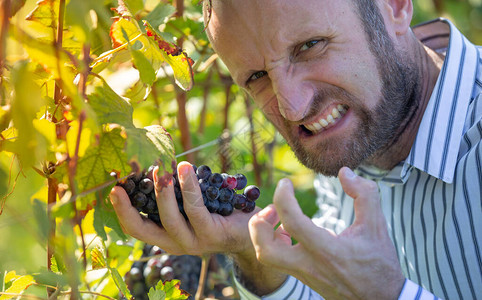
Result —
<instances>
[{"instance_id":1,"label":"man's shaded neck between his beard and shirt collar","mask_svg":"<svg viewBox=\"0 0 482 300\"><path fill-rule=\"evenodd\" d=\"M415 105L394 140L366 161L368 165L383 170L393 169L408 157L444 61L443 55L424 46L418 40L414 41L414 44L415 62L419 66L420 78L417 91L414 91Z\"/></svg>"}]
</instances>

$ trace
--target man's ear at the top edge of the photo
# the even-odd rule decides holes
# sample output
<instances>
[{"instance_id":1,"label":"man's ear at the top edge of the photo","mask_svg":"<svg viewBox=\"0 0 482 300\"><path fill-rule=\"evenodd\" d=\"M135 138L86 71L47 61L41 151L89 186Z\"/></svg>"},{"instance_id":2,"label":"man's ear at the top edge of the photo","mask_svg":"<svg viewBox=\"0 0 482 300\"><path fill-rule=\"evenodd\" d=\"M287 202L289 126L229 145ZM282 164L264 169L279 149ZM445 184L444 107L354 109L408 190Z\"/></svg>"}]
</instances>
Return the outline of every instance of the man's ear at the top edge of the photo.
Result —
<instances>
[{"instance_id":1,"label":"man's ear at the top edge of the photo","mask_svg":"<svg viewBox=\"0 0 482 300\"><path fill-rule=\"evenodd\" d=\"M396 35L404 35L410 29L413 17L412 0L383 0L386 20Z\"/></svg>"}]
</instances>

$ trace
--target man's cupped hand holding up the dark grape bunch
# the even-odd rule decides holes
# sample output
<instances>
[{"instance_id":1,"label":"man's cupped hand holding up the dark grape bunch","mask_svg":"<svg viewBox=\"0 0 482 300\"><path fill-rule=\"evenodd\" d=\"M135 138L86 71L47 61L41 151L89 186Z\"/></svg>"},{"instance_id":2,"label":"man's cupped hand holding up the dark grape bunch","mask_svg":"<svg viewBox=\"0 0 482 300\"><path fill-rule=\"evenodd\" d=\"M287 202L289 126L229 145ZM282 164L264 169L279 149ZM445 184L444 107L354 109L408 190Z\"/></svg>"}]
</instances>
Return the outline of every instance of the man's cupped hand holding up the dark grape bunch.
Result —
<instances>
[{"instance_id":1,"label":"man's cupped hand holding up the dark grape bunch","mask_svg":"<svg viewBox=\"0 0 482 300\"><path fill-rule=\"evenodd\" d=\"M157 182L156 172L153 179ZM235 210L228 217L211 214L204 204L199 179L189 163L179 164L178 180L184 213L189 220L179 210L174 180L165 188L155 184L162 227L141 217L126 191L120 186L114 187L110 197L124 231L171 254L238 253L252 249L247 224L254 212Z\"/></svg>"}]
</instances>

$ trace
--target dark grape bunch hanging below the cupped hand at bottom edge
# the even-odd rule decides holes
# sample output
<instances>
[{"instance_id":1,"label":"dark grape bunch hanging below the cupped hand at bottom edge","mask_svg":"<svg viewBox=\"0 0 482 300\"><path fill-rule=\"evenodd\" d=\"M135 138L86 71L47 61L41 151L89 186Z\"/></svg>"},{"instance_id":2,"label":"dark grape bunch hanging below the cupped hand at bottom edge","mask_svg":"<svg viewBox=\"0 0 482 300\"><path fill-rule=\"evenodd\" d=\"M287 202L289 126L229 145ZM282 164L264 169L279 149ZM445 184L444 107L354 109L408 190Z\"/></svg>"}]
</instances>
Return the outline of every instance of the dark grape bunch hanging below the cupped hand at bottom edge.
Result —
<instances>
[{"instance_id":1,"label":"dark grape bunch hanging below the cupped hand at bottom edge","mask_svg":"<svg viewBox=\"0 0 482 300\"><path fill-rule=\"evenodd\" d=\"M147 261L146 261L147 260ZM147 293L159 280L179 279L181 289L196 293L201 272L201 258L191 255L170 255L157 246L145 245L141 260L132 264L124 279L137 300L147 300Z\"/></svg>"}]
</instances>

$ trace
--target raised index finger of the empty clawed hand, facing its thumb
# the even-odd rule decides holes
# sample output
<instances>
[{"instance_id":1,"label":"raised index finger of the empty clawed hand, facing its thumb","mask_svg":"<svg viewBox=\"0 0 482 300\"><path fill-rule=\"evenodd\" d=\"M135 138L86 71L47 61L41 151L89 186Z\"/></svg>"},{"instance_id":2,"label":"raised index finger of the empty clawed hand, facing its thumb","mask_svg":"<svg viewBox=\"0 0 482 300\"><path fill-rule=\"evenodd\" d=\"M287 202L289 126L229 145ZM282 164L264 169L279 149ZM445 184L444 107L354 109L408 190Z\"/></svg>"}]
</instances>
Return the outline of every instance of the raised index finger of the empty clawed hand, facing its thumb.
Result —
<instances>
[{"instance_id":1,"label":"raised index finger of the empty clawed hand, facing its thumb","mask_svg":"<svg viewBox=\"0 0 482 300\"><path fill-rule=\"evenodd\" d=\"M281 179L278 182L273 203L276 206L283 228L298 242L304 245L312 245L315 240L320 247L332 243L333 236L328 231L313 224L311 219L303 214L289 179Z\"/></svg>"}]
</instances>

